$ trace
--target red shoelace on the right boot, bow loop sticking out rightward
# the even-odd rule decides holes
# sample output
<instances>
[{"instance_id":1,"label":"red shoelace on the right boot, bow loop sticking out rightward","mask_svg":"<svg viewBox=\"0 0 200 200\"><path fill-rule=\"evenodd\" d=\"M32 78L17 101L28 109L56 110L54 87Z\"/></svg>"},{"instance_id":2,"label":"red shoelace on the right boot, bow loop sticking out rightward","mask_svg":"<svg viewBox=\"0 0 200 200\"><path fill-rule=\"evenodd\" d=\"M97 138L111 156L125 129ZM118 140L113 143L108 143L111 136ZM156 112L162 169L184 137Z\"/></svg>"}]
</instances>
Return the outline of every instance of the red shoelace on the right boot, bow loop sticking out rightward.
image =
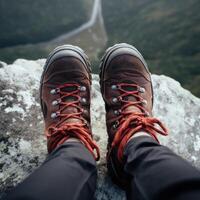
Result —
<instances>
[{"instance_id":1,"label":"red shoelace on the right boot, bow loop sticking out rightward","mask_svg":"<svg viewBox=\"0 0 200 200\"><path fill-rule=\"evenodd\" d=\"M121 93L121 95L118 97L118 100L122 102L123 106L121 108L120 115L116 118L116 120L119 122L119 127L111 144L111 150L116 146L118 147L117 157L118 160L122 162L124 148L129 139L135 133L144 131L158 141L157 134L166 136L168 135L168 130L160 122L160 120L148 116L148 112L142 105L145 101L139 95L141 92L141 87L136 84L129 83L120 83L116 86ZM127 91L124 89L124 87L131 87L135 89ZM127 96L133 96L136 101L125 100L125 97ZM142 113L125 111L125 109L129 106L136 106L142 111Z\"/></svg>"}]
</instances>

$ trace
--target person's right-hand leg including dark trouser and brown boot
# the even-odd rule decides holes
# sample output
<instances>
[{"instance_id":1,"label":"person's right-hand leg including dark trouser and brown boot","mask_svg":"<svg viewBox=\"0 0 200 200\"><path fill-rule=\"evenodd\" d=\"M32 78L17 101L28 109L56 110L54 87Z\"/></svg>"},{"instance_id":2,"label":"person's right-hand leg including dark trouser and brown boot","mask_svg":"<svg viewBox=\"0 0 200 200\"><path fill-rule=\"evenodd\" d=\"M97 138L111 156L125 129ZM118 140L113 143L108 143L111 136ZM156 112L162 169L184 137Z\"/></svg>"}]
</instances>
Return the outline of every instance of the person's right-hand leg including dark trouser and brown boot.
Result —
<instances>
[{"instance_id":1,"label":"person's right-hand leg including dark trouser and brown boot","mask_svg":"<svg viewBox=\"0 0 200 200\"><path fill-rule=\"evenodd\" d=\"M109 48L100 85L113 181L127 190L129 199L200 199L199 171L158 144L157 135L168 131L153 117L151 74L141 53L124 43ZM148 136L133 138L139 133Z\"/></svg>"}]
</instances>

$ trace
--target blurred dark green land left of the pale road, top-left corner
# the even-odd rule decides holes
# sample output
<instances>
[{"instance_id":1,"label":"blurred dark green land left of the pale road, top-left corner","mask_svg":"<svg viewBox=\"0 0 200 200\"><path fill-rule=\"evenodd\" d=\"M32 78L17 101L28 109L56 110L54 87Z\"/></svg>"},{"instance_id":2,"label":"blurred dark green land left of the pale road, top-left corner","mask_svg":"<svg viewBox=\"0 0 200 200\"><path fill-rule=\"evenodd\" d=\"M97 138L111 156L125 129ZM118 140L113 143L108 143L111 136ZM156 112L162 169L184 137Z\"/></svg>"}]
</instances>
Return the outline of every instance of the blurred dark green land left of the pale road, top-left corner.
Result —
<instances>
[{"instance_id":1,"label":"blurred dark green land left of the pale road, top-left corner","mask_svg":"<svg viewBox=\"0 0 200 200\"><path fill-rule=\"evenodd\" d=\"M48 41L85 22L92 0L0 0L0 48Z\"/></svg>"}]
</instances>

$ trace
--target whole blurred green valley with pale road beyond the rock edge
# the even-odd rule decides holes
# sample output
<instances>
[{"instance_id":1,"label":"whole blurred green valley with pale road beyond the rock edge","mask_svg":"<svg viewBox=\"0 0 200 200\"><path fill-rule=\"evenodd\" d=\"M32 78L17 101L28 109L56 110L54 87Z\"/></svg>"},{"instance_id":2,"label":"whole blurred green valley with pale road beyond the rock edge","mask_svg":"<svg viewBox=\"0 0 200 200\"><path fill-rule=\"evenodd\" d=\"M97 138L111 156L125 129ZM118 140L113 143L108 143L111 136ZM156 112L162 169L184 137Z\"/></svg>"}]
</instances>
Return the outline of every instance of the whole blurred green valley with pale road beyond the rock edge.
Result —
<instances>
[{"instance_id":1,"label":"whole blurred green valley with pale road beyond the rock edge","mask_svg":"<svg viewBox=\"0 0 200 200\"><path fill-rule=\"evenodd\" d=\"M1 61L45 58L71 43L98 73L105 49L119 42L200 97L199 0L0 0Z\"/></svg>"}]
</instances>

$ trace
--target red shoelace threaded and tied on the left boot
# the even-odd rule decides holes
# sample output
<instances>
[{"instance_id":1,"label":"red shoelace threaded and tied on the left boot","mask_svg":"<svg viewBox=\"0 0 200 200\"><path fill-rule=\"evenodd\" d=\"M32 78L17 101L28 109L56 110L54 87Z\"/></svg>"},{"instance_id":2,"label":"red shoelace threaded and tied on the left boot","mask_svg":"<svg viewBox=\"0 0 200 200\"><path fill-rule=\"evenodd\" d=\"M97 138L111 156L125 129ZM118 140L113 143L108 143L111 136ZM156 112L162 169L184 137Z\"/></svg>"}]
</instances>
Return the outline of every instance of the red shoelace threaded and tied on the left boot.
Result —
<instances>
[{"instance_id":1,"label":"red shoelace threaded and tied on the left boot","mask_svg":"<svg viewBox=\"0 0 200 200\"><path fill-rule=\"evenodd\" d=\"M67 88L75 88L68 92L64 91ZM79 84L63 84L57 86L53 91L56 94L60 94L60 99L57 103L62 106L55 114L60 118L60 121L56 125L50 126L45 134L47 138L53 139L53 143L50 146L50 151L55 149L60 144L63 144L69 138L79 139L86 148L91 152L96 160L100 158L99 148L96 142L92 138L92 133L87 126L85 119L82 117L84 110L79 106L81 97L79 96L81 86ZM69 102L65 101L66 98L73 98ZM78 112L66 114L63 111L67 107L74 107ZM78 122L66 122L68 119L78 119ZM96 151L96 153L94 153Z\"/></svg>"}]
</instances>

